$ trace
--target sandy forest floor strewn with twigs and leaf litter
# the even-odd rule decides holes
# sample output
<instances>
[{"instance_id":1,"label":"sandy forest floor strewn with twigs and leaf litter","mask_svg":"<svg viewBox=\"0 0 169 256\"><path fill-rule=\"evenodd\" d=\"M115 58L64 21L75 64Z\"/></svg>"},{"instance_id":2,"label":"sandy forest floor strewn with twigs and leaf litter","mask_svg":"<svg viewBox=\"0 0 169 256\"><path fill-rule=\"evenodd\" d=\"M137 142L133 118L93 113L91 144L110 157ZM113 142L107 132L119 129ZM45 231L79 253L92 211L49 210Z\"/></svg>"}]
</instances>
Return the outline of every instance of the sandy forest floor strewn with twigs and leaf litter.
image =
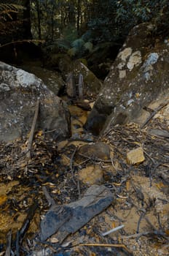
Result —
<instances>
[{"instance_id":1,"label":"sandy forest floor strewn with twigs and leaf litter","mask_svg":"<svg viewBox=\"0 0 169 256\"><path fill-rule=\"evenodd\" d=\"M95 142L109 145L108 161L79 155L84 141L56 143L42 131L34 136L30 159L25 158L28 138L1 143L0 255L7 255L9 247L16 255L169 255L169 132L168 120L162 116L165 110L143 129L138 124L117 125L95 138ZM142 149L143 159L137 153L132 159L127 157L135 148ZM39 223L50 208L43 187L58 205L74 202L90 187L78 182L79 170L93 165L101 168L101 184L110 189L114 203L63 244L58 245L57 237L38 241ZM103 236L120 225L124 226Z\"/></svg>"}]
</instances>

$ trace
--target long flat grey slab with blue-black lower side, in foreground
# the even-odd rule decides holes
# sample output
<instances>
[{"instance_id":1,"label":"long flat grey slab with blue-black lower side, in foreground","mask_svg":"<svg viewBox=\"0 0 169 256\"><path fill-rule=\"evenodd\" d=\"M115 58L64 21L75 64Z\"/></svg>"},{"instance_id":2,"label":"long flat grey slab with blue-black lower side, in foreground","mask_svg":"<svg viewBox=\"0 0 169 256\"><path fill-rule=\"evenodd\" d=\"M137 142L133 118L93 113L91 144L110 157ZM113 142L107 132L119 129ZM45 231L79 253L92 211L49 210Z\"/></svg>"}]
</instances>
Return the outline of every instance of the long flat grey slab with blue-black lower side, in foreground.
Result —
<instances>
[{"instance_id":1,"label":"long flat grey slab with blue-black lower side, in foreground","mask_svg":"<svg viewBox=\"0 0 169 256\"><path fill-rule=\"evenodd\" d=\"M113 201L114 196L109 189L103 185L93 185L82 199L65 206L53 206L40 225L42 241L55 234L61 243L66 236L75 233Z\"/></svg>"}]
</instances>

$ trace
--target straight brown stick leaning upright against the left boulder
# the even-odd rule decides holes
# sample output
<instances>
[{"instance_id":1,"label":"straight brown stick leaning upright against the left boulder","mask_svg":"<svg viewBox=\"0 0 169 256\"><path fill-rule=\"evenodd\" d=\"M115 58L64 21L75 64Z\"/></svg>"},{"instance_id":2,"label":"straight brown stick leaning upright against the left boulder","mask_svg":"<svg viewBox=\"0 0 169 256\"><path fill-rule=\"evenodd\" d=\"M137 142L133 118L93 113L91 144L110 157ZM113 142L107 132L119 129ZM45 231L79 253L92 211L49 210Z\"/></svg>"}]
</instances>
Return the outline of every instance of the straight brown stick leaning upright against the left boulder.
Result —
<instances>
[{"instance_id":1,"label":"straight brown stick leaning upright against the left boulder","mask_svg":"<svg viewBox=\"0 0 169 256\"><path fill-rule=\"evenodd\" d=\"M30 136L28 138L28 151L26 153L26 157L28 157L29 159L31 158L31 146L32 146L33 138L34 138L34 130L35 130L36 121L37 121L38 113L39 113L39 103L40 103L40 101L38 99L37 102L36 102L34 120L33 120L33 123L32 123Z\"/></svg>"}]
</instances>

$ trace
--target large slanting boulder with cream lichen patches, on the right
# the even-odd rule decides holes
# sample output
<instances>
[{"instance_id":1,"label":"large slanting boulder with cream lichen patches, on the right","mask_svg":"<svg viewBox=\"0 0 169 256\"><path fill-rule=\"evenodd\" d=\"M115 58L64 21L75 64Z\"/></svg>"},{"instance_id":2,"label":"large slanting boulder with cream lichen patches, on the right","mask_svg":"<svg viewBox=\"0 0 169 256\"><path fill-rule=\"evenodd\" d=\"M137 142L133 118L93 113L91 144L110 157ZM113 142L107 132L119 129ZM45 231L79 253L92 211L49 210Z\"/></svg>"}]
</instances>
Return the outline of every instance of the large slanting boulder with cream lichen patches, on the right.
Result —
<instances>
[{"instance_id":1,"label":"large slanting boulder with cream lichen patches, on the right","mask_svg":"<svg viewBox=\"0 0 169 256\"><path fill-rule=\"evenodd\" d=\"M85 128L95 135L108 123L143 122L144 106L169 97L169 44L153 42L153 29L143 23L130 31L87 118Z\"/></svg>"}]
</instances>

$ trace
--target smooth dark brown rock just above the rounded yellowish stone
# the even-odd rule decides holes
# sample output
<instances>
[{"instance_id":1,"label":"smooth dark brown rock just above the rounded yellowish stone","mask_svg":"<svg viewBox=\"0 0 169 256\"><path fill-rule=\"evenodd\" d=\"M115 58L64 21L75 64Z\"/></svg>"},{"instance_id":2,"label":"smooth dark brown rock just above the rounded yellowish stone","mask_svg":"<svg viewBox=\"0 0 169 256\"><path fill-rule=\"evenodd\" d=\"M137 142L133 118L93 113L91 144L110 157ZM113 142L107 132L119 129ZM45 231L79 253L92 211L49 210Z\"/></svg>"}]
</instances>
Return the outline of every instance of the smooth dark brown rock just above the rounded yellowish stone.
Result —
<instances>
[{"instance_id":1,"label":"smooth dark brown rock just above the rounded yellowish stone","mask_svg":"<svg viewBox=\"0 0 169 256\"><path fill-rule=\"evenodd\" d=\"M106 143L98 142L93 144L86 144L79 148L78 153L84 157L94 157L97 159L110 159L110 148Z\"/></svg>"}]
</instances>

